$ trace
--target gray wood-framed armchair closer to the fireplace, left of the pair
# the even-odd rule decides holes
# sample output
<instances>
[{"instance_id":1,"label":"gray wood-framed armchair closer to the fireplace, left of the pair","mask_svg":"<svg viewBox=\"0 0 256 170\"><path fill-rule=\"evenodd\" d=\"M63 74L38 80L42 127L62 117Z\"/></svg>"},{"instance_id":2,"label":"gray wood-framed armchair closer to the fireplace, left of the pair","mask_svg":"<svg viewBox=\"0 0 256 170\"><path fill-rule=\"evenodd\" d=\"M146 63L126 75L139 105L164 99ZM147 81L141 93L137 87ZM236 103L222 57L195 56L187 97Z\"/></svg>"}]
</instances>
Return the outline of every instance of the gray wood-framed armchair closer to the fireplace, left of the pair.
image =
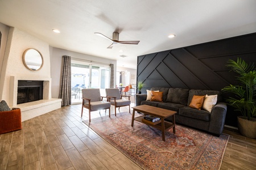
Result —
<instances>
[{"instance_id":1,"label":"gray wood-framed armchair closer to the fireplace, left of the pair","mask_svg":"<svg viewBox=\"0 0 256 170\"><path fill-rule=\"evenodd\" d=\"M82 89L82 112L86 108L89 110L89 122L90 122L90 112L98 111L103 109L109 109L110 117L110 107L109 101L103 101L103 96L100 94L100 88L84 88ZM106 97L109 100L109 97ZM81 112L81 117L82 117Z\"/></svg>"}]
</instances>

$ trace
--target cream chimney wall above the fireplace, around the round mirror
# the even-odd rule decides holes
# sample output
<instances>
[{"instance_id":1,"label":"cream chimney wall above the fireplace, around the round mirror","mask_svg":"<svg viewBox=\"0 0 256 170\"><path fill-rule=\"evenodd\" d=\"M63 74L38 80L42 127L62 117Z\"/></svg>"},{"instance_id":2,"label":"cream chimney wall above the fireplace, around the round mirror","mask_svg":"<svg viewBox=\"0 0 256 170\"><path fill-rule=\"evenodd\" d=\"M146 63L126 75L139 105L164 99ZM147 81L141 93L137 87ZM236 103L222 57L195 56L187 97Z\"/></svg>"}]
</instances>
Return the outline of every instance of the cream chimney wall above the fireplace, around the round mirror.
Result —
<instances>
[{"instance_id":1,"label":"cream chimney wall above the fireplace, around the round mirror","mask_svg":"<svg viewBox=\"0 0 256 170\"><path fill-rule=\"evenodd\" d=\"M38 71L28 70L22 61L22 54L28 48L37 49L43 56L44 64L42 69ZM51 68L49 59L49 44L31 36L29 33L21 31L18 28L10 28L5 55L3 57L3 65L1 72L1 82L3 82L1 100L6 100L7 104L11 103L10 99L10 78L18 76L29 79L50 79ZM51 83L51 82L50 82ZM51 94L51 90L49 90ZM49 95L51 96L51 95ZM51 98L51 97L50 97Z\"/></svg>"}]
</instances>

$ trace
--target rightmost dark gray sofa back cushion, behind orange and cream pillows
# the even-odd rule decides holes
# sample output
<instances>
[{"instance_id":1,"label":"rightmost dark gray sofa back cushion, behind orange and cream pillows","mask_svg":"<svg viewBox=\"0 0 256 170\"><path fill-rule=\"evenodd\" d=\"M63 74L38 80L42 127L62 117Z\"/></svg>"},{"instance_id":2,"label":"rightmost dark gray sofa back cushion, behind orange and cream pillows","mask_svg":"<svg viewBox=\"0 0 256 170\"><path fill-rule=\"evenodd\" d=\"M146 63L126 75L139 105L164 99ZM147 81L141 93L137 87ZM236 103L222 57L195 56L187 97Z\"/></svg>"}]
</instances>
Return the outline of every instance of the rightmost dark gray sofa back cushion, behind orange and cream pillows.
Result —
<instances>
[{"instance_id":1,"label":"rightmost dark gray sofa back cushion, behind orange and cream pillows","mask_svg":"<svg viewBox=\"0 0 256 170\"><path fill-rule=\"evenodd\" d=\"M217 103L222 102L222 94L220 91L214 91L214 90L189 90L188 92L188 103L187 106L191 103L193 95L197 96L204 96L204 95L218 95L217 97Z\"/></svg>"}]
</instances>

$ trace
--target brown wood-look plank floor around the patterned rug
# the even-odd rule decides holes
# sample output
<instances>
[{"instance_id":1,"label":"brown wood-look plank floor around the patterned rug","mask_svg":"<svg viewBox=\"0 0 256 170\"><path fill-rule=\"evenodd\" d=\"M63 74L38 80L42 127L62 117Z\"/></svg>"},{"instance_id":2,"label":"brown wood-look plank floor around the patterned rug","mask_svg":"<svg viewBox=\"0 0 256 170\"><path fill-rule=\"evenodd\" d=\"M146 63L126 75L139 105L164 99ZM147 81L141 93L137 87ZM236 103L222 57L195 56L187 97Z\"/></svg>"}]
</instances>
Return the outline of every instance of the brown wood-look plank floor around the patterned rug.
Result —
<instances>
[{"instance_id":1,"label":"brown wood-look plank floor around the patterned rug","mask_svg":"<svg viewBox=\"0 0 256 170\"><path fill-rule=\"evenodd\" d=\"M92 112L92 118L100 116L108 113ZM22 122L22 130L1 134L0 169L142 169L83 120L88 120L86 109L81 118L81 104L71 105ZM231 129L224 133L230 138L221 169L256 169L256 140Z\"/></svg>"}]
</instances>

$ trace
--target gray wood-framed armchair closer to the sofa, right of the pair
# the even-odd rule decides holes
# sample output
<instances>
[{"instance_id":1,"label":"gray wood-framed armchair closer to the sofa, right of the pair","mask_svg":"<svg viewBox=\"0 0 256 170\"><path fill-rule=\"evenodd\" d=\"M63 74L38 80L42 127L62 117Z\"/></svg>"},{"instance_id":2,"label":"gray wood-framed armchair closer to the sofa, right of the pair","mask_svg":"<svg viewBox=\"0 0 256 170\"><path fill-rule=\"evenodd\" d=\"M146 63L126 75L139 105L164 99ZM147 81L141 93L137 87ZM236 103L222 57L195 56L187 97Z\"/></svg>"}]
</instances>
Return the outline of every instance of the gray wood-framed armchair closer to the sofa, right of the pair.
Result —
<instances>
[{"instance_id":1,"label":"gray wood-framed armchair closer to the sofa, right of the pair","mask_svg":"<svg viewBox=\"0 0 256 170\"><path fill-rule=\"evenodd\" d=\"M114 105L115 107L115 116L117 116L117 108L118 110L120 109L120 107L125 107L125 106L129 106L129 113L131 113L130 111L130 96L126 96L126 95L120 95L119 89L118 88L106 88L106 96L110 97L110 103L111 105ZM129 100L126 99L122 99L122 97L129 97Z\"/></svg>"}]
</instances>

